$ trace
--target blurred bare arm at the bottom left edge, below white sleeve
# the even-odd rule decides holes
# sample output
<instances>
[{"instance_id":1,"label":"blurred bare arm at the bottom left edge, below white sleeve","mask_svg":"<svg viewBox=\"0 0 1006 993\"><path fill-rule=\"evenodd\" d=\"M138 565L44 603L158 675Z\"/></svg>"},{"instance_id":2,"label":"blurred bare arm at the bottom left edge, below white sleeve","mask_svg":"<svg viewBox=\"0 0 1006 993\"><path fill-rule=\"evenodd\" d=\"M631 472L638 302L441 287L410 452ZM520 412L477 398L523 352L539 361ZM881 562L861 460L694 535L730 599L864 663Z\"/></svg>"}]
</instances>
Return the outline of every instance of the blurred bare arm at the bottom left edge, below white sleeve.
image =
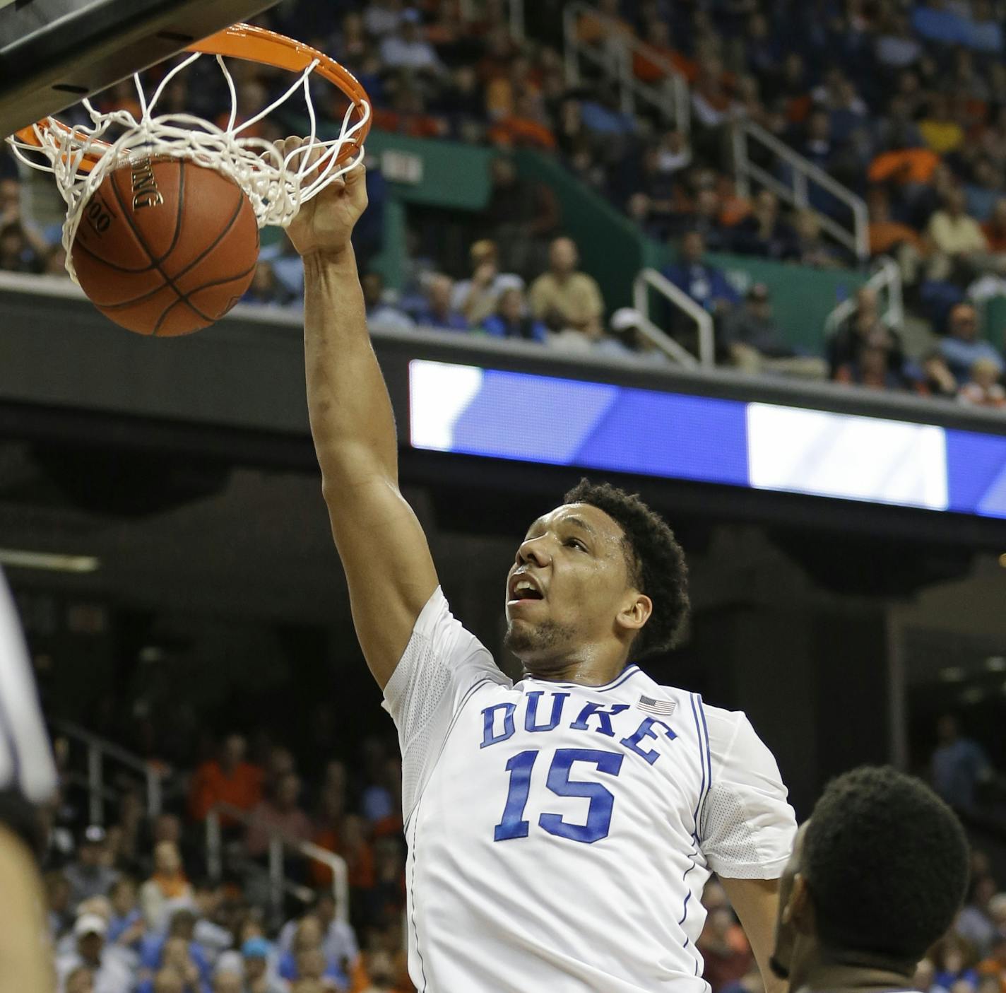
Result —
<instances>
[{"instance_id":1,"label":"blurred bare arm at the bottom left edge, below white sleeve","mask_svg":"<svg viewBox=\"0 0 1006 993\"><path fill-rule=\"evenodd\" d=\"M28 846L0 825L0 990L51 993L51 949L42 917L44 897Z\"/></svg>"}]
</instances>

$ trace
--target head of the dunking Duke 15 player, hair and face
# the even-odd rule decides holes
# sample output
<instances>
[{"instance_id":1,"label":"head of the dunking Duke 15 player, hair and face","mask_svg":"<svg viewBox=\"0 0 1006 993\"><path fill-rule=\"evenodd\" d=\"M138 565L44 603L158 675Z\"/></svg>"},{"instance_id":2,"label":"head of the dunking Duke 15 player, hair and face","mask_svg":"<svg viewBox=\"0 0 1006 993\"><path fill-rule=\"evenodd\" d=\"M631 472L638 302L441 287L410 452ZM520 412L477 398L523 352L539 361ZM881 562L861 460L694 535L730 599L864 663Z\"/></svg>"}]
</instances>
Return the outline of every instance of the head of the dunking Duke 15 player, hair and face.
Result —
<instances>
[{"instance_id":1,"label":"head of the dunking Duke 15 player, hair and face","mask_svg":"<svg viewBox=\"0 0 1006 993\"><path fill-rule=\"evenodd\" d=\"M584 479L564 499L517 549L506 644L529 672L602 662L614 676L674 645L688 614L684 553L638 496Z\"/></svg>"}]
</instances>

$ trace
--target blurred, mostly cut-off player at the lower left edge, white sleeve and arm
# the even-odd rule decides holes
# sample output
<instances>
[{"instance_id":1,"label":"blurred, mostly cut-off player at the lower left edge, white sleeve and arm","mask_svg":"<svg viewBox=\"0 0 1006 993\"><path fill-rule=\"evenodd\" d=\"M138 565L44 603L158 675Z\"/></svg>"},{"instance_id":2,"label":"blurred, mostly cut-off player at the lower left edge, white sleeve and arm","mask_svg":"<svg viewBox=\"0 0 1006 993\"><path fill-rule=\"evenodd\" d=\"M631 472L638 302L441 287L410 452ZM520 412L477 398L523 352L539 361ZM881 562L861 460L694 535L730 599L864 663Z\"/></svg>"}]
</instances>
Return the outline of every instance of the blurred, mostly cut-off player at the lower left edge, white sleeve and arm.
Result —
<instances>
[{"instance_id":1,"label":"blurred, mostly cut-off player at the lower left edge, white sleeve and arm","mask_svg":"<svg viewBox=\"0 0 1006 993\"><path fill-rule=\"evenodd\" d=\"M34 810L55 786L24 641L0 572L0 990L50 993L55 983Z\"/></svg>"}]
</instances>

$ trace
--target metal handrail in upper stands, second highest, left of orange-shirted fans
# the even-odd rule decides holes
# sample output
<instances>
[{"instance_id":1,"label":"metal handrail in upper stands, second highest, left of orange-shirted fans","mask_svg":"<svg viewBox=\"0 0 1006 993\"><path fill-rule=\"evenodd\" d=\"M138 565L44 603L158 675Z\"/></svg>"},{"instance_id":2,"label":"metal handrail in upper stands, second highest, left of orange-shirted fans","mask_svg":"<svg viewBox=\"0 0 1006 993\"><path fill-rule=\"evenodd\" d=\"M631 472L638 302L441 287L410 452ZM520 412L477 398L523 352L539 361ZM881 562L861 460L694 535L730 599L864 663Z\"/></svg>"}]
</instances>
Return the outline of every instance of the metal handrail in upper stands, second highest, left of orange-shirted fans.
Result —
<instances>
[{"instance_id":1,"label":"metal handrail in upper stands, second highest, left of orange-shirted fans","mask_svg":"<svg viewBox=\"0 0 1006 993\"><path fill-rule=\"evenodd\" d=\"M786 142L780 141L771 131L767 131L753 121L738 120L733 123L733 168L736 172L737 193L740 196L750 196L750 182L761 183L771 189L777 196L793 206L804 208L810 203L809 183L815 183L827 190L836 199L841 200L852 212L851 230L818 211L821 228L827 231L836 241L844 244L860 262L865 262L870 255L869 242L869 212L866 201L857 196L847 186L828 175L820 166L816 166L799 152L790 148ZM778 176L763 169L747 157L747 140L764 145L771 152L783 159L794 170L793 186L784 183Z\"/></svg>"}]
</instances>

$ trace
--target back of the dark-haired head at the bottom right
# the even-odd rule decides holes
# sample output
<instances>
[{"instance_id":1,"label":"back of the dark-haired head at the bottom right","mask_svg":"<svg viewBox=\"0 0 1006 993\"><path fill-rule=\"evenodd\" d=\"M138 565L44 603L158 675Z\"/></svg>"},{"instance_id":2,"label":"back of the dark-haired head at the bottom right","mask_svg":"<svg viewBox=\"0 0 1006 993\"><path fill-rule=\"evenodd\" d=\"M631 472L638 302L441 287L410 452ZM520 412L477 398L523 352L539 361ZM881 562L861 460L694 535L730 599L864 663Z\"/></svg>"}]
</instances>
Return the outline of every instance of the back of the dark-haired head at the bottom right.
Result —
<instances>
[{"instance_id":1,"label":"back of the dark-haired head at the bottom right","mask_svg":"<svg viewBox=\"0 0 1006 993\"><path fill-rule=\"evenodd\" d=\"M780 881L772 964L792 989L911 988L968 882L968 842L928 786L863 767L830 783Z\"/></svg>"}]
</instances>

